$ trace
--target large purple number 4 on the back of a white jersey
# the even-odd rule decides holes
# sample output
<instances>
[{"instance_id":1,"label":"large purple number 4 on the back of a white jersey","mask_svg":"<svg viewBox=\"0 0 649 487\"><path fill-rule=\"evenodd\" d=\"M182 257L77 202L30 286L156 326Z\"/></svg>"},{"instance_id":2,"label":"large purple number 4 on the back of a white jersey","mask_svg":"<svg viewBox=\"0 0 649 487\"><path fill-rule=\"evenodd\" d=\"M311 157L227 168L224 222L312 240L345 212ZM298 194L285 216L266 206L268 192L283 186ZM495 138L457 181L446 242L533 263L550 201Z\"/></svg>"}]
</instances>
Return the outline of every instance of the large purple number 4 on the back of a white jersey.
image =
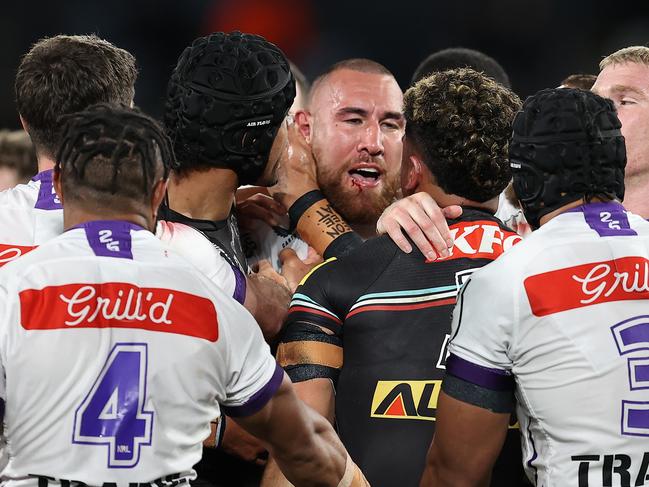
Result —
<instances>
[{"instance_id":1,"label":"large purple number 4 on the back of a white jersey","mask_svg":"<svg viewBox=\"0 0 649 487\"><path fill-rule=\"evenodd\" d=\"M147 345L117 343L74 416L72 443L108 447L109 468L130 468L151 444L145 411Z\"/></svg>"}]
</instances>

